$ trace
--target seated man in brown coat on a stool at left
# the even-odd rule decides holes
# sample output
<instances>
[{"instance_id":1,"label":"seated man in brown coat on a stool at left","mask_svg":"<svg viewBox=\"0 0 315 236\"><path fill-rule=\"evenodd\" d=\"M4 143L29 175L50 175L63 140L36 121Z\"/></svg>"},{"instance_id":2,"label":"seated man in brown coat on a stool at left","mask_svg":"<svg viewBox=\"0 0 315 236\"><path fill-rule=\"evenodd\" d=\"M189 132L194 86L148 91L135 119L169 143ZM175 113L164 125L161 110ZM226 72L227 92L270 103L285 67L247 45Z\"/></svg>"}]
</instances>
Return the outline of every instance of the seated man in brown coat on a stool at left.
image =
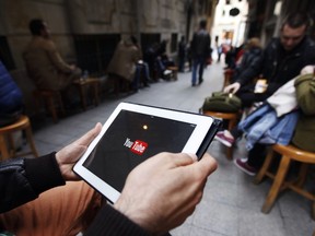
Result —
<instances>
[{"instance_id":1,"label":"seated man in brown coat on a stool at left","mask_svg":"<svg viewBox=\"0 0 315 236\"><path fill-rule=\"evenodd\" d=\"M46 22L32 20L30 31L33 38L23 54L30 78L39 90L63 91L81 76L81 69L63 61Z\"/></svg>"}]
</instances>

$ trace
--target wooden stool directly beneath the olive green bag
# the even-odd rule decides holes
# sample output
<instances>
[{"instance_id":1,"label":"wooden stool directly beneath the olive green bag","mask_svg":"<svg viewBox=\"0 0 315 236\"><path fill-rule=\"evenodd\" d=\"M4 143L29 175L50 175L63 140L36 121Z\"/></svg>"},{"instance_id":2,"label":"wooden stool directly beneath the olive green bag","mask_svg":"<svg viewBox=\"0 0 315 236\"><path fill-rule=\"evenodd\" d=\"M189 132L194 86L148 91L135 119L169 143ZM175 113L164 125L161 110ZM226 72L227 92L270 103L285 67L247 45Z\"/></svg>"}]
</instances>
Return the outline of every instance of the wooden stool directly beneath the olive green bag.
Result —
<instances>
[{"instance_id":1,"label":"wooden stool directly beneath the olive green bag","mask_svg":"<svg viewBox=\"0 0 315 236\"><path fill-rule=\"evenodd\" d=\"M219 113L219 111L211 111L211 110L203 110L203 115L213 116L217 118L221 118L223 120L228 120L229 121L229 125L228 125L229 131L231 131L236 126L237 119L240 116L238 113ZM233 160L233 146L228 148L226 157L230 161Z\"/></svg>"}]
</instances>

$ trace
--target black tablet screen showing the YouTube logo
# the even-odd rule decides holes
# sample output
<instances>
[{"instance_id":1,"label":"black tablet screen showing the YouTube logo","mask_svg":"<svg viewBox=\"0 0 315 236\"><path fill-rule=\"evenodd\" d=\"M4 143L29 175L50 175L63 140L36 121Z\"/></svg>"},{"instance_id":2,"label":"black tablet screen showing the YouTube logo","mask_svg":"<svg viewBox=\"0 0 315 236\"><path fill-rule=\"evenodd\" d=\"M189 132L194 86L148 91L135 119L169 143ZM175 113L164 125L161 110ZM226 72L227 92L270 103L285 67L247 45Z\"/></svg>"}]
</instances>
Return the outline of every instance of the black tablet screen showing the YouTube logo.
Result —
<instances>
[{"instance_id":1,"label":"black tablet screen showing the YouTube logo","mask_svg":"<svg viewBox=\"0 0 315 236\"><path fill-rule=\"evenodd\" d=\"M195 128L195 123L120 110L83 166L120 192L130 169L160 152L182 152Z\"/></svg>"}]
</instances>

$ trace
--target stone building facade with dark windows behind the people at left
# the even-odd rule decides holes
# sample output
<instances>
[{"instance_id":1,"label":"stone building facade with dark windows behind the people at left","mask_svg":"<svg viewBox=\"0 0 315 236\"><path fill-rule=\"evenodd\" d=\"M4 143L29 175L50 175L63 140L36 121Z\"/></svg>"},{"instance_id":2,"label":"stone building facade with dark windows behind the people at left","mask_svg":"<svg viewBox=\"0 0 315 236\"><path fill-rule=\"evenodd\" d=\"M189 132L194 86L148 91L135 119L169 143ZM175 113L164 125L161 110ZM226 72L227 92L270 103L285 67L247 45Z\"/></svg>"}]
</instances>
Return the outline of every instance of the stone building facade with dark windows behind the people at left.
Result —
<instances>
[{"instance_id":1,"label":"stone building facade with dark windows behind the people at left","mask_svg":"<svg viewBox=\"0 0 315 236\"><path fill-rule=\"evenodd\" d=\"M24 67L22 52L31 39L28 22L44 19L62 56L83 69L103 73L120 38L135 35L145 49L166 39L176 52L182 35L190 37L197 22L211 25L211 0L1 0L0 59Z\"/></svg>"}]
</instances>

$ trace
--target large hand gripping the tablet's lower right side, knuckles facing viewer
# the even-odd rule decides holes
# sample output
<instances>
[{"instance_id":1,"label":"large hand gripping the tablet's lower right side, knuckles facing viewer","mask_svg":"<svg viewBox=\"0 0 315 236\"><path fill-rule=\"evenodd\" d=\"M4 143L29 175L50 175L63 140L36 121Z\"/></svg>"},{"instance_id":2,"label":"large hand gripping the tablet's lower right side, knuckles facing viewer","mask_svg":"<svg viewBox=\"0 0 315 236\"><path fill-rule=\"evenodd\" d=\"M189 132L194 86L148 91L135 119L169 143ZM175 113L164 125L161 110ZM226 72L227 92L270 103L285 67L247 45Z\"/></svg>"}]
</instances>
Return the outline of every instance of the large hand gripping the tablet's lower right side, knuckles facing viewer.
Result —
<instances>
[{"instance_id":1,"label":"large hand gripping the tablet's lower right side, knuckles facing viewer","mask_svg":"<svg viewBox=\"0 0 315 236\"><path fill-rule=\"evenodd\" d=\"M207 177L217 169L209 154L160 153L128 176L114 208L150 233L180 225L202 198Z\"/></svg>"}]
</instances>

